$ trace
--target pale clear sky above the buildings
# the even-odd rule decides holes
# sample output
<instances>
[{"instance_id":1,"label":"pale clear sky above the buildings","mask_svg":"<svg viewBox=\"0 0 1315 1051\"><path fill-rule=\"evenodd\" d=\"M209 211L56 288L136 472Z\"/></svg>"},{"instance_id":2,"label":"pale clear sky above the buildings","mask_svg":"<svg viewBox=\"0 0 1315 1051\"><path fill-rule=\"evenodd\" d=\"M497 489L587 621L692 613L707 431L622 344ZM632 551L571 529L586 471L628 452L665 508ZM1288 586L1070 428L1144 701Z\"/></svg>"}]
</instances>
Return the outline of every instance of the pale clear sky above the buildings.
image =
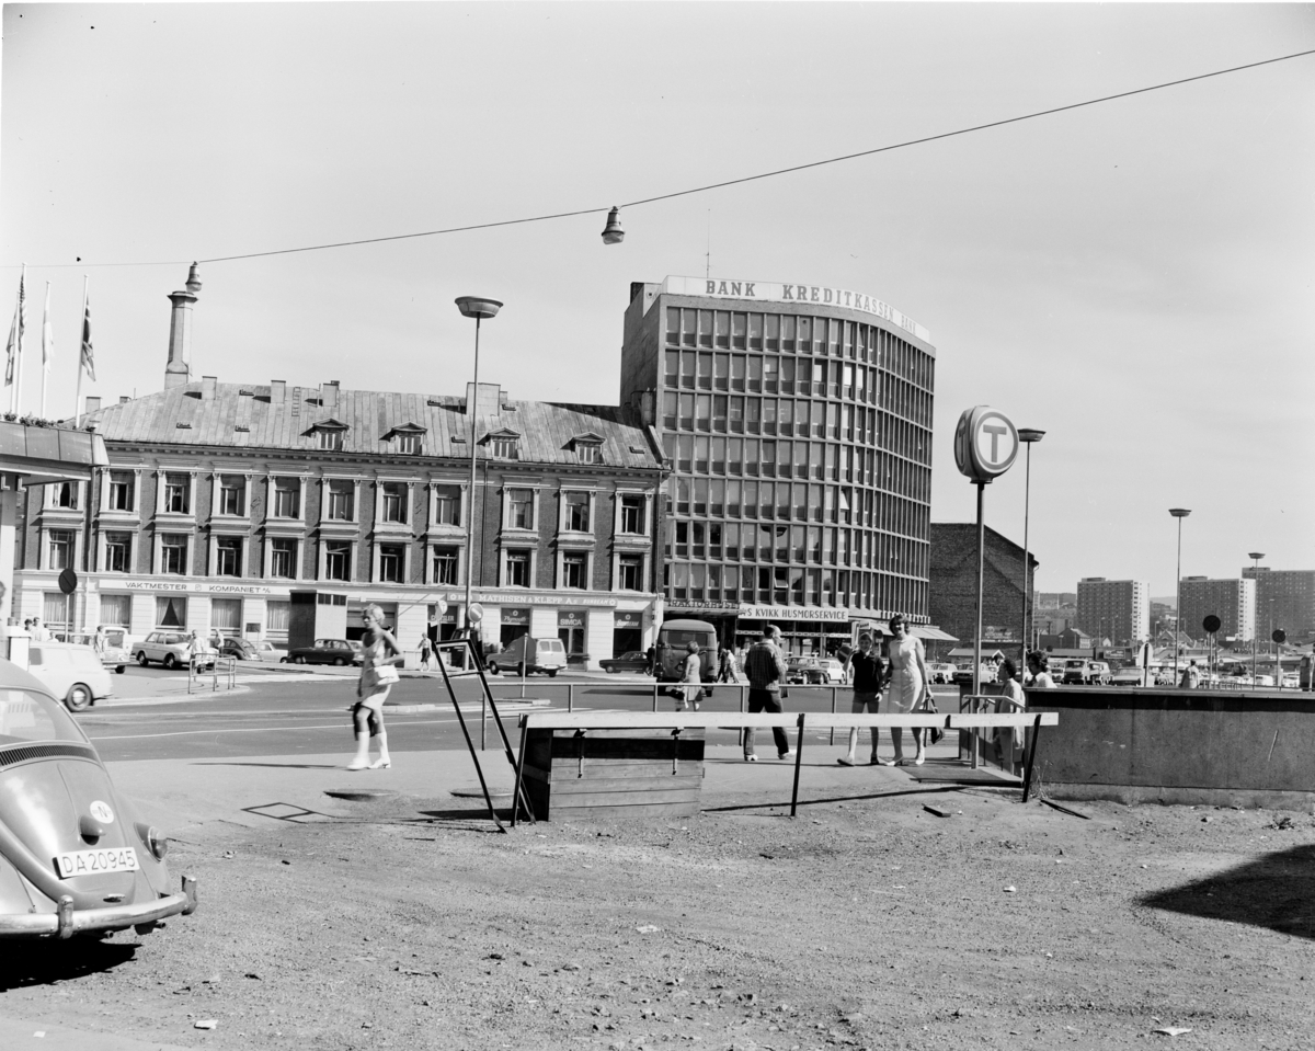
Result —
<instances>
[{"instance_id":1,"label":"pale clear sky above the buildings","mask_svg":"<svg viewBox=\"0 0 1315 1051\"><path fill-rule=\"evenodd\" d=\"M452 300L506 305L480 378L615 404L631 281L711 274L892 304L936 347L932 521L972 521L959 414L1045 437L986 491L1041 591L1315 568L1315 55L606 209L1315 49L1301 4L7 4L0 313L22 409L192 372L462 393ZM5 318L8 320L8 317ZM8 408L9 392L0 393Z\"/></svg>"}]
</instances>

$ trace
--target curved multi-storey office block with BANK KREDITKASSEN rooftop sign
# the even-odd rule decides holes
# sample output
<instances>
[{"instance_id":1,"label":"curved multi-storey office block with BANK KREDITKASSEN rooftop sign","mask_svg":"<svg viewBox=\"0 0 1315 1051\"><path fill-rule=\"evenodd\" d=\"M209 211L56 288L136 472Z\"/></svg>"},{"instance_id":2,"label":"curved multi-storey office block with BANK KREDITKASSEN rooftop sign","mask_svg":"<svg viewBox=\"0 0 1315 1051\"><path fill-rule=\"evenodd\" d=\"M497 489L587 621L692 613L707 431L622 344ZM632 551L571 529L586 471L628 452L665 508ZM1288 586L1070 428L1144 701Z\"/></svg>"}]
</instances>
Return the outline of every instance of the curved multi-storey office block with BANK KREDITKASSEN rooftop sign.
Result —
<instances>
[{"instance_id":1,"label":"curved multi-storey office block with BANK KREDITKASSEN rooftop sign","mask_svg":"<svg viewBox=\"0 0 1315 1051\"><path fill-rule=\"evenodd\" d=\"M661 445L668 617L793 652L859 620L928 622L935 349L868 296L764 281L635 283L621 401Z\"/></svg>"}]
</instances>

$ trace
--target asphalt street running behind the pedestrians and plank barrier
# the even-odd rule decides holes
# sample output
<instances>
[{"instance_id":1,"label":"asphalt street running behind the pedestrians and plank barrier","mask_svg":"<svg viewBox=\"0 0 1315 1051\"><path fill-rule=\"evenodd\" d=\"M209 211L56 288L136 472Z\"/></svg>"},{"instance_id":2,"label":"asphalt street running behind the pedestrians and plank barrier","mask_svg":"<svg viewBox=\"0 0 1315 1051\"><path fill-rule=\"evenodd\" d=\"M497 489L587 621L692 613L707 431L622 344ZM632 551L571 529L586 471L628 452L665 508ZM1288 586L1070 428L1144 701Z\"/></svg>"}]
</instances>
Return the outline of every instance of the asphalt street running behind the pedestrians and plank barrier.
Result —
<instances>
[{"instance_id":1,"label":"asphalt street running behind the pedestrians and plank barrier","mask_svg":"<svg viewBox=\"0 0 1315 1051\"><path fill-rule=\"evenodd\" d=\"M354 747L348 708L355 700L355 675L342 672L262 672L239 666L237 692L201 692L187 696L187 676L159 668L130 667L114 676L116 698L78 713L76 720L109 762L129 759L208 759L251 755L323 755ZM517 716L530 706L565 710L594 709L647 712L654 706L652 680L638 675L490 679L504 725L517 745ZM477 679L454 681L467 726L481 741L481 689ZM836 710L849 710L849 691L835 691ZM948 692L942 696L945 709ZM402 679L385 708L389 748L431 751L463 748L460 721L441 677ZM534 702L538 704L534 704ZM792 687L785 702L790 712L828 712L831 688ZM661 695L660 710L675 706ZM738 712L740 691L718 687L705 701L705 712ZM725 739L722 739L725 737ZM498 747L498 734L488 713L484 739ZM713 731L710 743L732 743L732 731ZM767 742L771 751L771 741ZM759 754L765 754L759 745Z\"/></svg>"}]
</instances>

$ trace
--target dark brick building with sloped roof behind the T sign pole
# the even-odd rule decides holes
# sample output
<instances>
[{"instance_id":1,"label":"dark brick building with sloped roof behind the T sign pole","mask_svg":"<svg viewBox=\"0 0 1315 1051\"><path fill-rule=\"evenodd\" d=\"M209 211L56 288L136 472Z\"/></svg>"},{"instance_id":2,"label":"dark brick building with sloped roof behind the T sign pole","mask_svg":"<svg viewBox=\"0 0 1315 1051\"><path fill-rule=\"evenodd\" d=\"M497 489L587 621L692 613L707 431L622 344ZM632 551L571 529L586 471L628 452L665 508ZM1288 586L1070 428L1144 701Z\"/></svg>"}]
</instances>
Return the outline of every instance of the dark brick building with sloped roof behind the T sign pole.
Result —
<instances>
[{"instance_id":1,"label":"dark brick building with sloped roof behind the T sign pole","mask_svg":"<svg viewBox=\"0 0 1315 1051\"><path fill-rule=\"evenodd\" d=\"M931 620L970 643L977 635L977 525L932 522L930 556ZM1039 564L1028 552L1028 592L1035 587ZM982 580L982 645L1018 646L1023 627L1023 549L990 526Z\"/></svg>"}]
</instances>

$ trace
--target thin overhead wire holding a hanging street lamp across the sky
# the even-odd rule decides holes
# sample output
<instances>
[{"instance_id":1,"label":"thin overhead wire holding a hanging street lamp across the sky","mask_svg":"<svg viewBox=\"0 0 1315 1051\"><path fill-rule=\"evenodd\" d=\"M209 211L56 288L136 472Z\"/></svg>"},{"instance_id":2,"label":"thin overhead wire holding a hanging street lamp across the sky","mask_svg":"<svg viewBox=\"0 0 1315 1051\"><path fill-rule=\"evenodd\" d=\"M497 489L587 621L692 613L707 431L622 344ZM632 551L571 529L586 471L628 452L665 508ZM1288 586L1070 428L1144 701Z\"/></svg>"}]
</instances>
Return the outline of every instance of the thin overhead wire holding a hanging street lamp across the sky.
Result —
<instances>
[{"instance_id":1,"label":"thin overhead wire holding a hanging street lamp across the sky","mask_svg":"<svg viewBox=\"0 0 1315 1051\"><path fill-rule=\"evenodd\" d=\"M723 179L722 182L718 182L718 183L706 183L704 185L690 187L688 189L677 189L677 191L673 191L671 193L658 193L658 195L655 195L652 197L639 197L638 200L633 200L633 201L629 201L626 204L615 205L615 207L619 207L622 209L626 209L626 208L639 208L639 207L646 205L646 204L656 204L658 201L668 201L668 200L675 199L675 197L686 197L686 196L689 196L692 193L706 193L706 192L709 192L711 189L723 189L726 187L740 185L743 183L753 183L753 182L759 182L759 180L763 180L763 179L773 179L773 178L776 178L778 175L790 175L792 172L807 171L809 168L819 168L819 167L825 167L827 164L839 164L839 163L843 163L846 160L857 160L859 158L873 157L876 154L889 153L892 150L902 150L902 149L906 149L909 146L920 146L920 145L927 143L927 142L938 142L940 139L947 139L947 138L955 138L957 135L972 134L973 132L985 132L985 130L988 130L990 128L1003 128L1005 125L1019 124L1020 121L1036 120L1039 117L1049 117L1049 116L1053 116L1056 113L1065 113L1065 112L1073 110L1073 109L1082 109L1085 107L1099 105L1102 103L1111 103L1111 101L1115 101L1118 99L1130 99L1130 97L1132 97L1135 95L1145 95L1147 92L1152 92L1152 91L1162 91L1164 88L1180 87L1182 84L1190 84L1190 83L1194 83L1194 82L1198 82L1198 80L1208 80L1208 79L1215 78L1215 76L1227 76L1228 74L1241 72L1244 70L1255 70L1255 68L1257 68L1260 66L1272 66L1276 62L1289 62L1289 61L1291 61L1294 58L1306 58L1307 55L1315 55L1315 49L1308 49L1308 50L1304 50L1304 51L1293 51L1291 54L1277 55L1276 58L1264 58L1264 59L1260 59L1258 62L1247 62L1247 63L1244 63L1241 66L1230 66L1230 67L1223 68L1223 70L1211 70L1210 72L1195 74L1193 76L1182 76L1182 78L1178 78L1177 80L1165 80L1165 82L1162 82L1160 84L1149 84L1149 86L1141 87L1141 88L1132 88L1131 91L1119 91L1119 92L1115 92L1112 95L1102 95L1102 96L1099 96L1097 99L1086 99L1086 100L1080 101L1080 103L1068 103L1066 105L1051 107L1049 109L1038 109L1038 110L1034 110L1031 113L1023 113L1023 114L1016 116L1016 117L1005 117L1005 118L998 120L998 121L988 121L985 124L974 124L974 125L970 125L968 128L956 128L952 132L940 132L940 133L934 134L934 135L922 135L919 138L910 138L910 139L905 139L902 142L893 142L893 143L886 145L886 146L876 146L876 147L873 147L871 150L859 150L856 153L840 154L839 157L828 157L828 158L826 158L823 160L810 160L810 162L807 162L805 164L793 164L793 166L785 167L785 168L775 168L772 171L757 172L756 175L743 175L743 176L740 176L738 179ZM475 224L469 224L469 225L466 225L466 226L446 226L446 228L438 229L438 230L419 230L419 232L406 233L406 234L389 234L389 235L384 235L384 237L364 237L364 238L358 238L358 239L354 239L354 241L330 241L330 242L326 242L326 243L322 243L322 245L304 245L304 246L295 247L295 249L270 249L270 250L266 250L266 251L250 251L250 253L242 253L242 254L238 254L238 255L214 255L214 257L210 257L210 258L206 258L206 259L195 259L195 260L174 259L174 260L159 260L159 262L147 262L147 263L84 263L84 262L76 262L76 263L49 263L49 264L34 263L32 266L39 267L39 268L45 270L45 268L62 268L62 267L185 266L188 262L197 262L197 263L229 263L229 262L235 262L235 260L239 260L239 259L259 259L259 258L266 258L266 257L272 257L272 255L292 255L292 254L296 254L296 253L306 253L306 251L325 251L327 249L347 249L347 247L354 247L354 246L359 246L359 245L380 245L380 243L384 243L384 242L388 242L388 241L409 241L409 239L414 239L414 238L419 238L419 237L439 237L439 235L443 235L443 234L468 233L471 230L490 230L490 229L496 229L498 226L518 226L518 225L527 224L527 222L548 222L551 220L558 220L558 218L573 218L576 216L600 214L600 213L610 210L611 207L613 205L602 205L602 207L598 207L598 208L581 208L581 209L577 209L577 210L573 210L573 212L551 212L551 213L540 214L540 216L523 216L521 218L496 220L496 221L492 221L492 222L475 222Z\"/></svg>"}]
</instances>

